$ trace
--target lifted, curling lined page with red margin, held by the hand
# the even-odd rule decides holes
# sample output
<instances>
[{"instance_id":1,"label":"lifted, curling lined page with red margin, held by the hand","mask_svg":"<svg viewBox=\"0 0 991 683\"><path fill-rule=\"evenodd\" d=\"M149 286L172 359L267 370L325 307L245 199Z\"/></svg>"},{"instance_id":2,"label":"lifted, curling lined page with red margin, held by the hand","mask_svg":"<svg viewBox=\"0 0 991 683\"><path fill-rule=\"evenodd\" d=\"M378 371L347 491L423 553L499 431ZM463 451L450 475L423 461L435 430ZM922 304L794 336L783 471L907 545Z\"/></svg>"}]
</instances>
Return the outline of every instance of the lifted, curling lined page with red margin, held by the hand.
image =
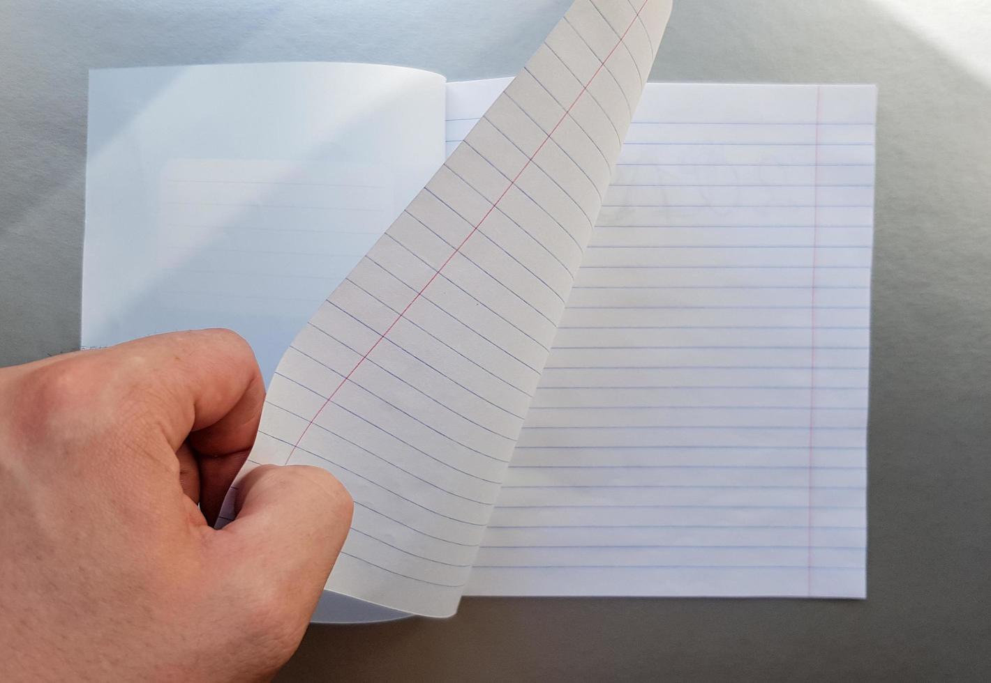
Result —
<instances>
[{"instance_id":1,"label":"lifted, curling lined page with red margin, held by the hand","mask_svg":"<svg viewBox=\"0 0 991 683\"><path fill-rule=\"evenodd\" d=\"M330 590L455 611L669 12L575 2L280 361L251 458L354 497Z\"/></svg>"}]
</instances>

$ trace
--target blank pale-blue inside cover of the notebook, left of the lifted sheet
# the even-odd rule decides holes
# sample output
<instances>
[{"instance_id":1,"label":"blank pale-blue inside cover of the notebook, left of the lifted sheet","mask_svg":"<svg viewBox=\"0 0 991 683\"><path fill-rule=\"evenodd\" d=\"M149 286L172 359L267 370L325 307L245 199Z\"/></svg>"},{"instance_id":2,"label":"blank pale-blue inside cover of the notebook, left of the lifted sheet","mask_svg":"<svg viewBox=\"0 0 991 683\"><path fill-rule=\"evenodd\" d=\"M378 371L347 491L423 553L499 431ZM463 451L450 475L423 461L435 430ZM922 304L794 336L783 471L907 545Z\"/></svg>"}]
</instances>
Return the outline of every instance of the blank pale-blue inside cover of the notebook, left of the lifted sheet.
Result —
<instances>
[{"instance_id":1,"label":"blank pale-blue inside cover of the notebook, left of the lifted sheet","mask_svg":"<svg viewBox=\"0 0 991 683\"><path fill-rule=\"evenodd\" d=\"M443 160L443 88L378 64L92 71L82 343L228 327L271 376Z\"/></svg>"}]
</instances>

